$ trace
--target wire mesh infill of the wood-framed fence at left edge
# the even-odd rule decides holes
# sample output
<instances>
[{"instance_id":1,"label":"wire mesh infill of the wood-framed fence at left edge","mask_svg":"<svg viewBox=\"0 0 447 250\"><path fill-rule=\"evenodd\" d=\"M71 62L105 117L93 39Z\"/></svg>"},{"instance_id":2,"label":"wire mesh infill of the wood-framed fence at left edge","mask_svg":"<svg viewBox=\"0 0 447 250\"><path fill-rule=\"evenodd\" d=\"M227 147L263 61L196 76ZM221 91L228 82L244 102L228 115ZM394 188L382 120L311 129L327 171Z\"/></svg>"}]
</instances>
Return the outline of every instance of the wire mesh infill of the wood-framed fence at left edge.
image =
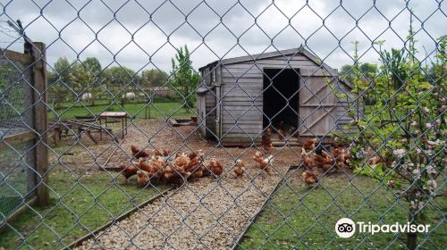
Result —
<instances>
[{"instance_id":1,"label":"wire mesh infill of the wood-framed fence at left edge","mask_svg":"<svg viewBox=\"0 0 447 250\"><path fill-rule=\"evenodd\" d=\"M34 144L16 140L30 133L33 125L31 107L30 66L25 63L0 61L1 106L1 184L2 220L35 196Z\"/></svg>"}]
</instances>

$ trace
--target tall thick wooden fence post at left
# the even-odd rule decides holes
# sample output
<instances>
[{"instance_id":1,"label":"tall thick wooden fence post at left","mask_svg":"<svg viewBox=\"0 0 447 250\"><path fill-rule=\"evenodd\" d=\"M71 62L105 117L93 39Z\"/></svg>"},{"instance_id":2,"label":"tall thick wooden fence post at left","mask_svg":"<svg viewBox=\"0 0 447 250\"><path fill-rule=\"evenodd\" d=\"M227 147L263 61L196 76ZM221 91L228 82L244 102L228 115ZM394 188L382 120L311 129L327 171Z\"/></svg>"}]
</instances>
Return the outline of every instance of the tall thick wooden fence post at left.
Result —
<instances>
[{"instance_id":1,"label":"tall thick wooden fence post at left","mask_svg":"<svg viewBox=\"0 0 447 250\"><path fill-rule=\"evenodd\" d=\"M49 203L48 192L48 148L47 145L47 125L46 120L46 46L44 43L33 43L32 55L34 56L34 65L32 79L34 88L34 129L38 132L36 145L36 171L41 176L38 179L38 205Z\"/></svg>"}]
</instances>

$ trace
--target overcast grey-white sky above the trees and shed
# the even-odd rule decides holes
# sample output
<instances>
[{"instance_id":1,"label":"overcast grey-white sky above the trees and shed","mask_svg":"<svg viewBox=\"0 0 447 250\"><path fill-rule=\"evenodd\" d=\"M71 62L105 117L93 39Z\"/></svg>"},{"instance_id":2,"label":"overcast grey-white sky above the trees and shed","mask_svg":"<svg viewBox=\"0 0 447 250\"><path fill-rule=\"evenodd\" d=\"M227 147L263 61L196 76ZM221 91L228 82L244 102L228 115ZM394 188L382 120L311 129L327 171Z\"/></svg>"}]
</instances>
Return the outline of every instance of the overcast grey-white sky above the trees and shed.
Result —
<instances>
[{"instance_id":1,"label":"overcast grey-white sky above the trees and shed","mask_svg":"<svg viewBox=\"0 0 447 250\"><path fill-rule=\"evenodd\" d=\"M4 21L20 19L27 35L48 46L49 63L97 57L103 67L119 63L135 71L169 71L174 47L188 45L194 67L219 58L298 47L340 68L352 63L358 40L362 62L377 62L372 41L401 48L414 12L420 57L433 53L447 34L445 4L434 0L0 0L0 46L21 50ZM440 0L440 2L442 2ZM407 8L408 5L408 8ZM391 24L390 24L391 21ZM357 26L356 26L357 22ZM423 29L422 29L423 28ZM133 37L133 38L132 38ZM239 42L238 42L239 41Z\"/></svg>"}]
</instances>

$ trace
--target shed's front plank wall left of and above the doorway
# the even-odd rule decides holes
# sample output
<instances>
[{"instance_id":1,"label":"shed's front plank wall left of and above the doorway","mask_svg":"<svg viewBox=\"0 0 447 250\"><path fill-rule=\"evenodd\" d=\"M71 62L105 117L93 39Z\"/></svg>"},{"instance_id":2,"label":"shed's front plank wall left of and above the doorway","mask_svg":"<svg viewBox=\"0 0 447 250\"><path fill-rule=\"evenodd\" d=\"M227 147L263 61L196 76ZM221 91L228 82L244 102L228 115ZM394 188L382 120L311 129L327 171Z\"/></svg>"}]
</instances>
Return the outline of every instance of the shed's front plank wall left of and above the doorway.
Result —
<instances>
[{"instance_id":1,"label":"shed's front plank wall left of and above the doorway","mask_svg":"<svg viewBox=\"0 0 447 250\"><path fill-rule=\"evenodd\" d=\"M278 56L222 66L222 133L225 142L260 141L263 128L264 68L299 69L306 75L336 75L303 55Z\"/></svg>"}]
</instances>

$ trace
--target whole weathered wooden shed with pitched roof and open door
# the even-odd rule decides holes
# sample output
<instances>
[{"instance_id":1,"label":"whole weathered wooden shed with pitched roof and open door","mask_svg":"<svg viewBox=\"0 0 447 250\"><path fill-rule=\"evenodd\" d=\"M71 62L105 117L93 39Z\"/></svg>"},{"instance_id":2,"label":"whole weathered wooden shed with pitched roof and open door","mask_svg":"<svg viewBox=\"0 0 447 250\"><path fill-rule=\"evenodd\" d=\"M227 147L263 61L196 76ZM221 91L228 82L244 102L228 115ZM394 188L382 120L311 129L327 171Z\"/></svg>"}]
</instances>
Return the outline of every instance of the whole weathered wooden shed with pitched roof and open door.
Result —
<instances>
[{"instance_id":1,"label":"whole weathered wooden shed with pitched roof and open door","mask_svg":"<svg viewBox=\"0 0 447 250\"><path fill-rule=\"evenodd\" d=\"M199 130L223 145L260 142L267 127L287 137L296 131L289 143L330 142L329 134L352 120L350 83L302 46L224 59L199 71Z\"/></svg>"}]
</instances>

